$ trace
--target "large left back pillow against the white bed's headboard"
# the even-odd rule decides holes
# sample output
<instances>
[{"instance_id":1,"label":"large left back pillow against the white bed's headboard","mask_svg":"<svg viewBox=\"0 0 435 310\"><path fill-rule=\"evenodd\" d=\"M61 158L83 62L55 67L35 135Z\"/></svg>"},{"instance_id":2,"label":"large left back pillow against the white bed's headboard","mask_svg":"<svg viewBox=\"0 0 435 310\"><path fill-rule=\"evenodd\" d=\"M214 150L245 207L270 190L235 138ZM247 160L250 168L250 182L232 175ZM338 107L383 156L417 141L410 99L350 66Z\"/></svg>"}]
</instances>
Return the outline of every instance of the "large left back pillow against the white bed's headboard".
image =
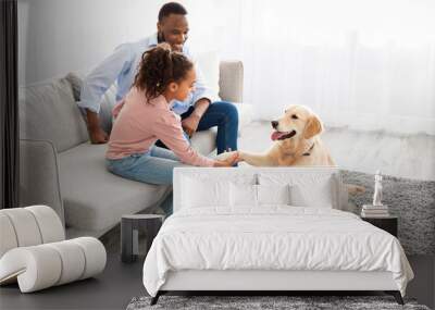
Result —
<instances>
[{"instance_id":1,"label":"large left back pillow against the white bed's headboard","mask_svg":"<svg viewBox=\"0 0 435 310\"><path fill-rule=\"evenodd\" d=\"M229 182L183 178L182 208L228 207Z\"/></svg>"}]
</instances>

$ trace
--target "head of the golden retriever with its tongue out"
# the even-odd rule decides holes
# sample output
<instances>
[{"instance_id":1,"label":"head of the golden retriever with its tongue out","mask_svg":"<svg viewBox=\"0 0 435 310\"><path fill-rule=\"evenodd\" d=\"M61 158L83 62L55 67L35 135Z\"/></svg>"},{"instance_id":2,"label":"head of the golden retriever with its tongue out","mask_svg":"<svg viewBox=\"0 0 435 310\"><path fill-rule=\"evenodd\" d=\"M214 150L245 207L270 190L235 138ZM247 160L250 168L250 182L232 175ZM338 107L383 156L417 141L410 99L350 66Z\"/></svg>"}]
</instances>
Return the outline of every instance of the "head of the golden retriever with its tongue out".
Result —
<instances>
[{"instance_id":1,"label":"head of the golden retriever with its tongue out","mask_svg":"<svg viewBox=\"0 0 435 310\"><path fill-rule=\"evenodd\" d=\"M319 116L303 106L290 106L281 119L272 121L272 127L275 129L272 140L310 139L323 131Z\"/></svg>"}]
</instances>

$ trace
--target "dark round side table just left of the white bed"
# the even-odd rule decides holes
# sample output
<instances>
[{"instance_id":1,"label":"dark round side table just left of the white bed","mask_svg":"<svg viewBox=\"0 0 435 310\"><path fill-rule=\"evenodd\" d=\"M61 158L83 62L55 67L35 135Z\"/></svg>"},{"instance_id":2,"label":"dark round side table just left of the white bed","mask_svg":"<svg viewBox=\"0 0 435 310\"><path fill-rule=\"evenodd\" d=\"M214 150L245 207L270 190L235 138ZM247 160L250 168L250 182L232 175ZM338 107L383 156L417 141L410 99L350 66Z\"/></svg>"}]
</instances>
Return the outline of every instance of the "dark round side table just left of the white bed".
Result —
<instances>
[{"instance_id":1,"label":"dark round side table just left of the white bed","mask_svg":"<svg viewBox=\"0 0 435 310\"><path fill-rule=\"evenodd\" d=\"M164 215L160 214L130 214L121 220L121 260L134 262L139 256L139 233L145 233L147 255L152 240L163 224Z\"/></svg>"}]
</instances>

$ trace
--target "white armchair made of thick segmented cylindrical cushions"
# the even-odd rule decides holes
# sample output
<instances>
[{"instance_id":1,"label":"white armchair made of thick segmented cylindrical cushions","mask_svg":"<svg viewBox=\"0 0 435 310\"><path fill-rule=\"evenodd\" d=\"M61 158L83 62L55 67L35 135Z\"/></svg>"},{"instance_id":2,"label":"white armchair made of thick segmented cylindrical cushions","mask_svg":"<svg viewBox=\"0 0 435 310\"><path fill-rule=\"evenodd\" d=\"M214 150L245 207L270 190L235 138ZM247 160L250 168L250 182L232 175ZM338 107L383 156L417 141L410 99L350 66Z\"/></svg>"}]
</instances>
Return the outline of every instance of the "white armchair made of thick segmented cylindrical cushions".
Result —
<instances>
[{"instance_id":1,"label":"white armchair made of thick segmented cylindrical cushions","mask_svg":"<svg viewBox=\"0 0 435 310\"><path fill-rule=\"evenodd\" d=\"M22 293L66 284L104 270L107 253L100 240L65 240L53 209L32 206L0 210L0 284L17 282Z\"/></svg>"}]
</instances>

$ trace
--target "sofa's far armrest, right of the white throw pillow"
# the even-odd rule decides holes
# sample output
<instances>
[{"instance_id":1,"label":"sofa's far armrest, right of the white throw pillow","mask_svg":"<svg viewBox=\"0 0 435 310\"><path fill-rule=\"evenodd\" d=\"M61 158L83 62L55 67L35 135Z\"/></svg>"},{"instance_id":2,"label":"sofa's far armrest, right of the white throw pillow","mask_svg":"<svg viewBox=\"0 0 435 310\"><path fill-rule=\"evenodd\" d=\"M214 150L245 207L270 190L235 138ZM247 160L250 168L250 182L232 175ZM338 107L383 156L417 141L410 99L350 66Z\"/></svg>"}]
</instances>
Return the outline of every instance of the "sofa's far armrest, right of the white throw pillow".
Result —
<instances>
[{"instance_id":1,"label":"sofa's far armrest, right of the white throw pillow","mask_svg":"<svg viewBox=\"0 0 435 310\"><path fill-rule=\"evenodd\" d=\"M221 61L219 87L219 96L222 100L243 102L244 65L241 61Z\"/></svg>"}]
</instances>

